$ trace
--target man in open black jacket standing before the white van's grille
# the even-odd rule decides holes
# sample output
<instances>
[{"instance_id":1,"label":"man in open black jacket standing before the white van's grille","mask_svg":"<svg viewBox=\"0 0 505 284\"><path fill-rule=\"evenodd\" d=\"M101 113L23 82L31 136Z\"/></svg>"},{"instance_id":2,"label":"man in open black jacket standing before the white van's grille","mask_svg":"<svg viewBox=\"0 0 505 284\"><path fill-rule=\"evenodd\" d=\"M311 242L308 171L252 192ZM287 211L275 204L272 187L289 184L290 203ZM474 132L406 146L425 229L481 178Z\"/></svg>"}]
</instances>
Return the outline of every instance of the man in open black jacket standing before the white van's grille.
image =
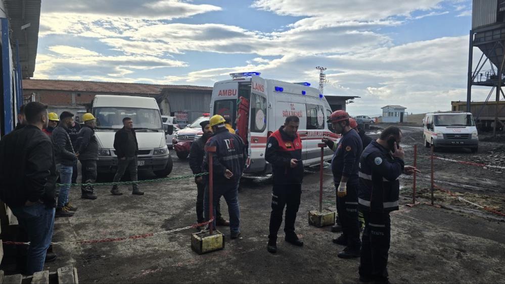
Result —
<instances>
[{"instance_id":1,"label":"man in open black jacket standing before the white van's grille","mask_svg":"<svg viewBox=\"0 0 505 284\"><path fill-rule=\"evenodd\" d=\"M123 128L114 135L114 149L117 156L117 172L114 176L114 182L121 180L128 168L130 179L132 182L137 181L137 154L139 154L139 144L135 130L133 129L133 121L130 118L123 119ZM143 195L144 192L139 190L137 184L132 184L133 191L131 194ZM111 193L113 195L121 195L117 185L112 186Z\"/></svg>"}]
</instances>

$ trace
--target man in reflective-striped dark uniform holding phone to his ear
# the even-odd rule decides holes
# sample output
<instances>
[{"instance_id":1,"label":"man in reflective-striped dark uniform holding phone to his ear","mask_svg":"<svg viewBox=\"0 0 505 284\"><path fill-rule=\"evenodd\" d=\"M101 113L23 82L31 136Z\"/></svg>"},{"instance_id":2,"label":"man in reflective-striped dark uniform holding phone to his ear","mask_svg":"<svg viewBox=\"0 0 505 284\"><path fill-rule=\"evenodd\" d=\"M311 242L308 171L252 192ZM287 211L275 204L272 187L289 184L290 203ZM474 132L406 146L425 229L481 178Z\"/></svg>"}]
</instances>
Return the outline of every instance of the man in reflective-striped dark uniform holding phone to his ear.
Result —
<instances>
[{"instance_id":1,"label":"man in reflective-striped dark uniform holding phone to his ear","mask_svg":"<svg viewBox=\"0 0 505 284\"><path fill-rule=\"evenodd\" d=\"M359 167L359 209L363 212L365 229L362 236L359 280L388 283L388 251L391 239L389 213L398 210L400 183L403 173L411 175L413 166L404 165L403 148L399 147L401 131L390 126L363 150Z\"/></svg>"}]
</instances>

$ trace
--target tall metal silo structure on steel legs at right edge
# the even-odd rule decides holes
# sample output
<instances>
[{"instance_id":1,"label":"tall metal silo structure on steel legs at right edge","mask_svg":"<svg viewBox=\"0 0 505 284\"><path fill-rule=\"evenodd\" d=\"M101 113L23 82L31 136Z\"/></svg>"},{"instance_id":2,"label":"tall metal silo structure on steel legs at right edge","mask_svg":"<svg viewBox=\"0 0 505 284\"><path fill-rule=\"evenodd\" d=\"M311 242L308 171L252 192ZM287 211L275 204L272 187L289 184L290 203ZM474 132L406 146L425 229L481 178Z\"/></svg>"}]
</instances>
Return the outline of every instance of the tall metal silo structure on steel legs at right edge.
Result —
<instances>
[{"instance_id":1,"label":"tall metal silo structure on steel legs at right edge","mask_svg":"<svg viewBox=\"0 0 505 284\"><path fill-rule=\"evenodd\" d=\"M482 56L473 69L473 47L482 51ZM486 103L496 92L496 109L493 133L496 133L498 123L498 101L505 82L505 0L473 0L472 30L470 30L470 48L468 60L467 111L470 112L472 86L488 86L491 90Z\"/></svg>"}]
</instances>

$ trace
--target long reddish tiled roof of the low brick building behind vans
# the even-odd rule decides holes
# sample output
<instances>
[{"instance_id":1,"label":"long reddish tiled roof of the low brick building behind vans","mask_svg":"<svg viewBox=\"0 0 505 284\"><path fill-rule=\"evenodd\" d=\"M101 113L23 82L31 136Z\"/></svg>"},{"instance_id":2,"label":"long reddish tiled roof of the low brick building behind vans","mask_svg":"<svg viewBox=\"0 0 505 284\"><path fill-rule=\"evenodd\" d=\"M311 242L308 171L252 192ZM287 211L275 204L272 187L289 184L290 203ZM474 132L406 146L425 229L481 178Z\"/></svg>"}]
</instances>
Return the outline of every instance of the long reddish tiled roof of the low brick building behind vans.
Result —
<instances>
[{"instance_id":1,"label":"long reddish tiled roof of the low brick building behind vans","mask_svg":"<svg viewBox=\"0 0 505 284\"><path fill-rule=\"evenodd\" d=\"M154 85L141 83L67 81L67 80L23 80L23 89L60 90L74 92L101 92L126 94L161 94L162 89L211 91L212 87L189 85Z\"/></svg>"}]
</instances>

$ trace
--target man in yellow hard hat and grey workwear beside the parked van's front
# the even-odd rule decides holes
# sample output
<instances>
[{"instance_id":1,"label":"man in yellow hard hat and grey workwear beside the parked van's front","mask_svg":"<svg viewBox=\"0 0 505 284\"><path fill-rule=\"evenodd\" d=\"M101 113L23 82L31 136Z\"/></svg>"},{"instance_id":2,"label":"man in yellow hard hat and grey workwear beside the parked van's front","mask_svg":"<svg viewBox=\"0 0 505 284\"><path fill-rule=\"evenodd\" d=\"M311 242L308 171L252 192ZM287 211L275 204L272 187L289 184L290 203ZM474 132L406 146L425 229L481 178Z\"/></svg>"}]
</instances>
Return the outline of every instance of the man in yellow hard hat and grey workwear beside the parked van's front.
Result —
<instances>
[{"instance_id":1,"label":"man in yellow hard hat and grey workwear beside the parked van's front","mask_svg":"<svg viewBox=\"0 0 505 284\"><path fill-rule=\"evenodd\" d=\"M82 116L84 126L78 133L79 161L81 162L81 183L93 184L97 180L98 140L95 136L96 119L91 113ZM97 199L93 186L81 186L81 198Z\"/></svg>"}]
</instances>

